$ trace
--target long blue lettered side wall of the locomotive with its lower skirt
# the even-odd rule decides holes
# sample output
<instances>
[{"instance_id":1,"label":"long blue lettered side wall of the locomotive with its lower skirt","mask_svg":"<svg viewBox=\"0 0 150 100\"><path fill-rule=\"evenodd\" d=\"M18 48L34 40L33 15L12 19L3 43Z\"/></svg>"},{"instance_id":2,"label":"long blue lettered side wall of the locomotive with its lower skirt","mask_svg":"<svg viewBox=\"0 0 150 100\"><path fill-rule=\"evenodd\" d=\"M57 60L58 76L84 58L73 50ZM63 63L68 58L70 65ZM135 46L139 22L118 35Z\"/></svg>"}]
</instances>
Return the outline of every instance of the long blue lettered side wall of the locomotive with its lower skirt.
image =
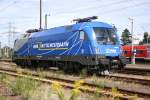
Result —
<instances>
[{"instance_id":1,"label":"long blue lettered side wall of the locomotive with its lower skirt","mask_svg":"<svg viewBox=\"0 0 150 100\"><path fill-rule=\"evenodd\" d=\"M43 33L46 35L41 36L34 34L27 42L22 43L22 39L17 41L16 48L17 44L22 46L15 51L16 59L72 61L83 65L97 65L91 41L83 30L59 34Z\"/></svg>"}]
</instances>

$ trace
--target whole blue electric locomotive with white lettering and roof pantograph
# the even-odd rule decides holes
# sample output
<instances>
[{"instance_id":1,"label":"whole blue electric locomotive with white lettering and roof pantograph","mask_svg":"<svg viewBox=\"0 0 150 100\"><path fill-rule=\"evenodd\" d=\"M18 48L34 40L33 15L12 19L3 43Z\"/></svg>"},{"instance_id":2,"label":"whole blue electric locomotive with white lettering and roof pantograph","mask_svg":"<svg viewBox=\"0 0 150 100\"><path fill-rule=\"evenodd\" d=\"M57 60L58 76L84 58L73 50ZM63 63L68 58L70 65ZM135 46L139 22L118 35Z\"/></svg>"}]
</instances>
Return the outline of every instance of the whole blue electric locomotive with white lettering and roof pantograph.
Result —
<instances>
[{"instance_id":1,"label":"whole blue electric locomotive with white lettering and roof pantograph","mask_svg":"<svg viewBox=\"0 0 150 100\"><path fill-rule=\"evenodd\" d=\"M116 29L96 17L76 19L76 24L28 32L14 44L19 65L57 66L64 71L94 68L98 71L125 66Z\"/></svg>"}]
</instances>

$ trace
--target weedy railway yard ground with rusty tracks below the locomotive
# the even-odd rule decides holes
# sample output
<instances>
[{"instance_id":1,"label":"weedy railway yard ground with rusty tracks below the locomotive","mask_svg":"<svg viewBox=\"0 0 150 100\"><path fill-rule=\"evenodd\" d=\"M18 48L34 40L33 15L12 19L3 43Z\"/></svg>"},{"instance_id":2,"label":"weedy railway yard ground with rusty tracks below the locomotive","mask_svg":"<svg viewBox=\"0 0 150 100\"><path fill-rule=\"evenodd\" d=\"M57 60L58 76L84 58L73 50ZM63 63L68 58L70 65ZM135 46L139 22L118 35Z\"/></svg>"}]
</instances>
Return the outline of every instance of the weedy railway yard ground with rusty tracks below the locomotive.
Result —
<instances>
[{"instance_id":1,"label":"weedy railway yard ground with rusty tracks below the locomotive","mask_svg":"<svg viewBox=\"0 0 150 100\"><path fill-rule=\"evenodd\" d=\"M138 70L132 74L126 73L129 71L127 69ZM8 100L63 100L63 98L65 100L71 98L71 100L73 98L149 100L150 75L147 73L150 73L150 66L129 64L123 71L101 76L86 73L74 75L65 74L57 69L22 69L14 63L2 61L0 62L0 98L2 100L6 98ZM142 74L139 74L140 72ZM24 84L19 85L21 82Z\"/></svg>"}]
</instances>

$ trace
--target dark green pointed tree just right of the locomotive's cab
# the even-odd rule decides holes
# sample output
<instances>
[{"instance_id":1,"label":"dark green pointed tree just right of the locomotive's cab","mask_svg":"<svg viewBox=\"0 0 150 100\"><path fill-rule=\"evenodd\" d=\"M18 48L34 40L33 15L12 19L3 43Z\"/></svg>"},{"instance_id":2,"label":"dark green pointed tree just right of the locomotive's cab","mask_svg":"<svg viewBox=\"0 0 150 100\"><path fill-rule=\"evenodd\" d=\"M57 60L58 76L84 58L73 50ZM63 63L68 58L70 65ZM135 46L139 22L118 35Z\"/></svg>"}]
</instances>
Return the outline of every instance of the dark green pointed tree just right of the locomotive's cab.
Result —
<instances>
[{"instance_id":1,"label":"dark green pointed tree just right of the locomotive's cab","mask_svg":"<svg viewBox=\"0 0 150 100\"><path fill-rule=\"evenodd\" d=\"M123 45L131 44L131 34L127 28L122 32L121 40Z\"/></svg>"}]
</instances>

